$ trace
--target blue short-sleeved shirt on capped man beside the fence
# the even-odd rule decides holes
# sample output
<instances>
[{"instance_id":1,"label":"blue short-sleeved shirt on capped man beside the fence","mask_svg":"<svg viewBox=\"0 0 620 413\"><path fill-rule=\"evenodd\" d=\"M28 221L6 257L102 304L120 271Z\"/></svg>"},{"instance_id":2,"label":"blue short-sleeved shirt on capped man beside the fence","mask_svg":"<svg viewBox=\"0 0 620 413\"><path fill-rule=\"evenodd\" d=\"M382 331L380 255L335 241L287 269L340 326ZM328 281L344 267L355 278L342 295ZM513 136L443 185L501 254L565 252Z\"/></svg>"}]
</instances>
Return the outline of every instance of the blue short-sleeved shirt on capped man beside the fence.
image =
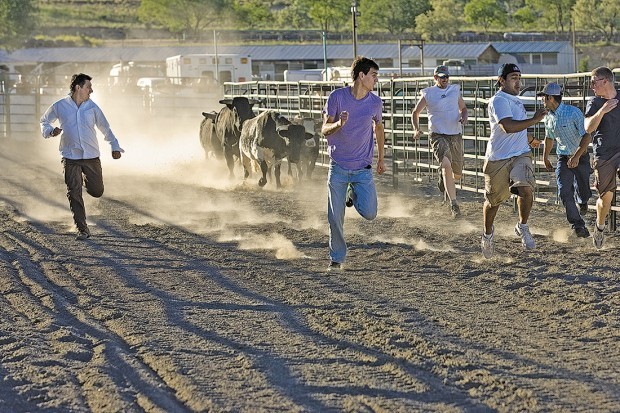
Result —
<instances>
[{"instance_id":1,"label":"blue short-sleeved shirt on capped man beside the fence","mask_svg":"<svg viewBox=\"0 0 620 413\"><path fill-rule=\"evenodd\" d=\"M558 155L573 155L579 149L581 138L586 134L584 116L572 105L560 103L554 111L545 116L545 132L547 139L555 139Z\"/></svg>"}]
</instances>

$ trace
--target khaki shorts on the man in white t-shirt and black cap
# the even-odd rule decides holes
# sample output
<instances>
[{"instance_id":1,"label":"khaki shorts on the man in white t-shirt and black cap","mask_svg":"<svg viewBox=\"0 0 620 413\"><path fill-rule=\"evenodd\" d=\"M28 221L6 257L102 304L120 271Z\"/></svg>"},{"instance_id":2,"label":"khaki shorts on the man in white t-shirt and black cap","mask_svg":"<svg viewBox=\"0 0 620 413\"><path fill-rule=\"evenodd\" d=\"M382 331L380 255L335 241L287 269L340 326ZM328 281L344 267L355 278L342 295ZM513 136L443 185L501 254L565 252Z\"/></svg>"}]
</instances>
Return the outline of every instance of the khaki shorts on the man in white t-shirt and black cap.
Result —
<instances>
[{"instance_id":1,"label":"khaki shorts on the man in white t-shirt and black cap","mask_svg":"<svg viewBox=\"0 0 620 413\"><path fill-rule=\"evenodd\" d=\"M501 204L511 194L516 195L518 187L534 189L536 185L532 154L529 152L509 159L485 161L482 172L484 197L492 206Z\"/></svg>"}]
</instances>

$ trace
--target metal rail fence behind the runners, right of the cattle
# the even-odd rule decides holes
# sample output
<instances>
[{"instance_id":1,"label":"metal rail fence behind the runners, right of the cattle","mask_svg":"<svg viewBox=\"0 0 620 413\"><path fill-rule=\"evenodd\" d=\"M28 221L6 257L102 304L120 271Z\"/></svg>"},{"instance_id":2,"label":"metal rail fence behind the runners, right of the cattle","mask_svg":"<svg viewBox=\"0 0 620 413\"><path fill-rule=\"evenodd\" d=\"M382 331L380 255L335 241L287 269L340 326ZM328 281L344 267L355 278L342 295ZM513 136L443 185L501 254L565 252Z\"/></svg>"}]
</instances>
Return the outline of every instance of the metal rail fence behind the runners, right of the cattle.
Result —
<instances>
[{"instance_id":1,"label":"metal rail fence behind the runners, right of the cattle","mask_svg":"<svg viewBox=\"0 0 620 413\"><path fill-rule=\"evenodd\" d=\"M619 69L614 71L617 74ZM525 105L528 116L541 107L536 92L542 90L548 82L557 82L562 86L562 102L577 106L583 112L588 98L591 97L590 73L568 75L522 75L522 88L519 98ZM488 103L495 94L496 77L451 77L452 83L461 86L461 93L469 113L468 124L463 130L465 162L463 176L457 182L462 191L484 193L484 175L482 168L486 145L491 133ZM336 88L345 86L346 82L242 82L226 83L226 98L245 96L260 101L258 111L277 110L287 117L322 119L322 109L327 97ZM438 165L434 162L428 134L418 140L412 138L411 111L421 97L420 91L433 85L432 77L393 78L380 80L374 91L383 100L383 124L385 127L385 161L392 183L398 187L402 183L426 182L436 180ZM428 129L426 111L420 115L420 126ZM528 129L544 144L544 125L538 123ZM534 199L540 203L561 203L557 194L554 171L547 171L543 162L544 145L533 149L536 188ZM321 150L317 163L327 166L327 142L321 140ZM591 145L590 145L591 152ZM552 151L555 154L555 150ZM593 175L591 182L593 180ZM616 204L617 188L609 216L609 228L617 228ZM516 199L513 197L516 207ZM589 208L594 210L592 201Z\"/></svg>"}]
</instances>

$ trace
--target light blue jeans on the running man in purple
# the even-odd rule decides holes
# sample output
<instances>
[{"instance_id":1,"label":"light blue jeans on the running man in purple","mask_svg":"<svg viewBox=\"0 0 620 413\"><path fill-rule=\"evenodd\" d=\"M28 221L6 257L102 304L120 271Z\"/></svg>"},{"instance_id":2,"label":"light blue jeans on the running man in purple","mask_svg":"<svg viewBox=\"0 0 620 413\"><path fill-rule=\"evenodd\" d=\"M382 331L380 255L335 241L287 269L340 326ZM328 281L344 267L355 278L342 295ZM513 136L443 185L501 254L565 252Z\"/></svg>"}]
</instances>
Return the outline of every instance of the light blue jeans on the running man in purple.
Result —
<instances>
[{"instance_id":1,"label":"light blue jeans on the running man in purple","mask_svg":"<svg viewBox=\"0 0 620 413\"><path fill-rule=\"evenodd\" d=\"M344 240L344 213L347 186L353 187L353 206L368 220L377 216L377 190L372 178L372 168L348 170L331 162L327 174L327 220L329 222L329 256L332 261L343 263L347 255Z\"/></svg>"}]
</instances>

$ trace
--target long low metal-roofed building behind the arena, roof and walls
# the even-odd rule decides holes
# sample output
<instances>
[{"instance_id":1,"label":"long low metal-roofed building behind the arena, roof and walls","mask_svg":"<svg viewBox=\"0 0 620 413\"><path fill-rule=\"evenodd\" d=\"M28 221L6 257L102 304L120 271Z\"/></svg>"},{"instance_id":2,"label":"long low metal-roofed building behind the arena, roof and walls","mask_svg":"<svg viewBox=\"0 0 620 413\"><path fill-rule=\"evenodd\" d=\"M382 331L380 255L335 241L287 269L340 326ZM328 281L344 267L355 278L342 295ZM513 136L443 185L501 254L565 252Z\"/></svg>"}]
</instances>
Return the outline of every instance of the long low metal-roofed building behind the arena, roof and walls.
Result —
<instances>
[{"instance_id":1,"label":"long low metal-roofed building behind the arena, roof and walls","mask_svg":"<svg viewBox=\"0 0 620 413\"><path fill-rule=\"evenodd\" d=\"M398 44L358 44L358 54L375 59L381 67L398 67ZM86 71L109 73L119 62L165 64L166 58L184 54L214 54L213 44L205 46L154 46L154 47L62 47L20 49L11 53L0 51L0 64L9 67L64 68L66 72ZM250 56L255 74L280 79L287 69L314 69L323 67L326 57L330 66L348 66L353 58L351 44L310 45L219 45L219 54ZM493 43L444 43L420 45L401 43L403 67L419 67L424 56L424 66L434 67L447 59L462 60L468 67L498 65L503 61L521 64L527 73L574 72L572 46L569 42L493 42Z\"/></svg>"}]
</instances>

